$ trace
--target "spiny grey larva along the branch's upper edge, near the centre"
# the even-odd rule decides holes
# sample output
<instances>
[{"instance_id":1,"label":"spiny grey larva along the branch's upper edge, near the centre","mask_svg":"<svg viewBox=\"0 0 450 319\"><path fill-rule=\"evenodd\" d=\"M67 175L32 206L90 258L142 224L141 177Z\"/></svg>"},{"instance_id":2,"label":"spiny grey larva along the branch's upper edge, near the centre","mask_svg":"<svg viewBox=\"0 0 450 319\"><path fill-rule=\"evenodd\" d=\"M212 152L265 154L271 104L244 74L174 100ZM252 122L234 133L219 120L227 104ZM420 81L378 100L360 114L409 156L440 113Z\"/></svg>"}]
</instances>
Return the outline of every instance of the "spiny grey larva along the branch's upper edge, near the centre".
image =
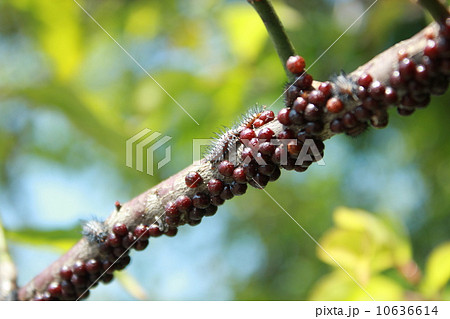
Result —
<instances>
[{"instance_id":1,"label":"spiny grey larva along the branch's upper edge, near the centre","mask_svg":"<svg viewBox=\"0 0 450 319\"><path fill-rule=\"evenodd\" d=\"M253 128L253 124L258 120L264 109L263 106L259 105L250 108L232 128L224 128L217 133L217 137L214 138L213 143L205 153L205 159L213 164L217 164L224 159L234 163L233 157L236 158L237 155L240 132L245 128Z\"/></svg>"}]
</instances>

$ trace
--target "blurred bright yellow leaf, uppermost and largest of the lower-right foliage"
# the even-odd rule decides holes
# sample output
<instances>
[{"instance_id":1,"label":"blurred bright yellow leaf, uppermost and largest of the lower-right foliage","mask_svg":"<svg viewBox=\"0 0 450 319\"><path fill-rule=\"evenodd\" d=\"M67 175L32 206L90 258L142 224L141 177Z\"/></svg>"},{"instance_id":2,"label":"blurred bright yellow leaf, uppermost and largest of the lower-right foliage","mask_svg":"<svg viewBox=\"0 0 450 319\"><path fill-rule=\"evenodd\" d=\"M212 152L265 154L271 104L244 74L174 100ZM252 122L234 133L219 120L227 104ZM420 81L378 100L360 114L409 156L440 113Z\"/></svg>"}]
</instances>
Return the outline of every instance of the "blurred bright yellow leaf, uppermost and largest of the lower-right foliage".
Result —
<instances>
[{"instance_id":1,"label":"blurred bright yellow leaf, uppermost and largest of the lower-right foliage","mask_svg":"<svg viewBox=\"0 0 450 319\"><path fill-rule=\"evenodd\" d=\"M411 260L406 237L379 216L341 207L333 217L336 227L329 230L320 242L331 256L360 280L366 281L373 273ZM317 252L321 260L338 267L321 249Z\"/></svg>"}]
</instances>

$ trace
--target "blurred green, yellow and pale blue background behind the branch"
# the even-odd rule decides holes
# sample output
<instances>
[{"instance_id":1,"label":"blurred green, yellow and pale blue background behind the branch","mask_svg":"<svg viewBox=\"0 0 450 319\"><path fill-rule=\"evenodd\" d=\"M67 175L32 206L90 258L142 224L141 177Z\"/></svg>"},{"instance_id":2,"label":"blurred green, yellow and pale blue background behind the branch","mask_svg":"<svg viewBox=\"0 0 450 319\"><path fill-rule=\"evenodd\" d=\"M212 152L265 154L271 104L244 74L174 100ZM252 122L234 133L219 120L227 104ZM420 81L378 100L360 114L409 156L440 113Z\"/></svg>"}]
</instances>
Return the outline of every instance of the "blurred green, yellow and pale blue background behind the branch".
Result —
<instances>
[{"instance_id":1,"label":"blurred green, yellow and pale blue background behind the branch","mask_svg":"<svg viewBox=\"0 0 450 319\"><path fill-rule=\"evenodd\" d=\"M71 0L0 1L0 216L19 284L105 218L191 163L208 138L285 75L244 0L79 0L199 122L196 125ZM311 64L372 1L274 1ZM380 0L309 71L352 71L430 22ZM267 191L376 299L450 299L450 95L363 136L326 142L326 166L283 172ZM273 110L282 107L282 99ZM172 137L149 176L125 166L144 128ZM89 300L368 300L262 191L175 238L151 241Z\"/></svg>"}]
</instances>

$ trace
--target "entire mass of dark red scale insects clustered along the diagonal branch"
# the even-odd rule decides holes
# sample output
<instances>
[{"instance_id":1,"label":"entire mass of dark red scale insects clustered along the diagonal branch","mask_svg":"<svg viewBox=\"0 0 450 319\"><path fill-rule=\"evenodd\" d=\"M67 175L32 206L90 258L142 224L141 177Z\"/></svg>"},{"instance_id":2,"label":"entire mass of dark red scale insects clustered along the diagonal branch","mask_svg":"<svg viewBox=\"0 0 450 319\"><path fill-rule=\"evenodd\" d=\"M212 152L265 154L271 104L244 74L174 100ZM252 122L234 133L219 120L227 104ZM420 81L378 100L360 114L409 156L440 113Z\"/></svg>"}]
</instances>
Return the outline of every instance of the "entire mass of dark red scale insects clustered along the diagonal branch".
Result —
<instances>
[{"instance_id":1,"label":"entire mass of dark red scale insects clustered along the diagonal branch","mask_svg":"<svg viewBox=\"0 0 450 319\"><path fill-rule=\"evenodd\" d=\"M431 94L443 94L449 85L450 19L441 25L437 37L427 36L420 58L410 57L404 52L399 52L398 56L398 66L387 83L381 83L367 73L356 79L342 73L321 83L318 88L312 86L313 78L305 72L304 59L290 57L287 68L296 78L287 86L286 107L277 115L283 125L281 132L275 134L265 126L275 119L272 111L260 107L252 109L237 125L219 134L210 147L205 160L210 162L214 177L204 180L199 172L186 174L187 191L166 203L163 223L135 227L116 224L110 231L104 223L86 223L84 235L99 246L98 258L62 266L55 281L44 292L37 292L34 299L85 298L91 285L97 285L98 281L110 282L113 271L129 264L129 248L143 250L150 237L175 236L178 226L198 225L203 217L214 215L217 207L226 200L245 194L248 184L263 188L270 181L277 180L281 168L305 171L314 159L310 157L298 165L296 160L300 150L311 139L322 156L324 144L320 135L326 128L336 134L357 136L369 125L385 127L390 105L396 106L400 115L410 115L425 107ZM345 106L350 101L359 105L346 110ZM325 121L327 114L333 114L331 122ZM273 143L283 139L296 142ZM237 149L240 151L236 152ZM230 160L231 154L235 155L234 160ZM287 161L282 162L282 158L287 158ZM120 209L120 205L116 205Z\"/></svg>"}]
</instances>

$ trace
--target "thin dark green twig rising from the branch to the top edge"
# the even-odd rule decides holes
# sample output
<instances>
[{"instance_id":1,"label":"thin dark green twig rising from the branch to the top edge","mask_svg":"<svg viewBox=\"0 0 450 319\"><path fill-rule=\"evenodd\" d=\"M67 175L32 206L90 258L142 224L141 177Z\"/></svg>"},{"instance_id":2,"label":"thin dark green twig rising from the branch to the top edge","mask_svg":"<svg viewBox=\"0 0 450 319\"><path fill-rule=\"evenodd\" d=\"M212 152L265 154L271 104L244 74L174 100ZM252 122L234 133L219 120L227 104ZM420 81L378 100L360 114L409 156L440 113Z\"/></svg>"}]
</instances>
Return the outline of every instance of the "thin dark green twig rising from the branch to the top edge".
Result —
<instances>
[{"instance_id":1,"label":"thin dark green twig rising from the branch to the top edge","mask_svg":"<svg viewBox=\"0 0 450 319\"><path fill-rule=\"evenodd\" d=\"M248 2L253 6L253 8L255 8L256 12L264 22L267 32L269 33L275 49L277 50L281 64L286 72L286 76L290 82L294 81L294 75L286 68L286 61L290 56L295 55L295 49L289 40L272 4L269 0L249 0Z\"/></svg>"}]
</instances>

